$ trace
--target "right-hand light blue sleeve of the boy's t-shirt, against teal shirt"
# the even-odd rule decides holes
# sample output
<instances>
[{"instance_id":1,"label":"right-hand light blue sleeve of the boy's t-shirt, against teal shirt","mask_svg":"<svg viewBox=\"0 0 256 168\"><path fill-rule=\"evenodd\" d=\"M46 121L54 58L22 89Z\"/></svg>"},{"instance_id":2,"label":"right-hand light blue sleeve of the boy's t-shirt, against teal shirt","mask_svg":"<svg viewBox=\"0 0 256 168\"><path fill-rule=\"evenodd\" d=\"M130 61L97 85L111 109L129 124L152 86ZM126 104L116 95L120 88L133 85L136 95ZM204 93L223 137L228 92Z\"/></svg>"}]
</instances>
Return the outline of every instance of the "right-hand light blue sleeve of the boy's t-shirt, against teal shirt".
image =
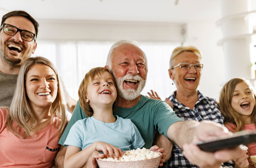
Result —
<instances>
[{"instance_id":1,"label":"right-hand light blue sleeve of the boy's t-shirt, against teal shirt","mask_svg":"<svg viewBox=\"0 0 256 168\"><path fill-rule=\"evenodd\" d=\"M138 128L131 122L131 130L132 130L132 142L131 149L137 149L144 146L145 142L142 139Z\"/></svg>"}]
</instances>

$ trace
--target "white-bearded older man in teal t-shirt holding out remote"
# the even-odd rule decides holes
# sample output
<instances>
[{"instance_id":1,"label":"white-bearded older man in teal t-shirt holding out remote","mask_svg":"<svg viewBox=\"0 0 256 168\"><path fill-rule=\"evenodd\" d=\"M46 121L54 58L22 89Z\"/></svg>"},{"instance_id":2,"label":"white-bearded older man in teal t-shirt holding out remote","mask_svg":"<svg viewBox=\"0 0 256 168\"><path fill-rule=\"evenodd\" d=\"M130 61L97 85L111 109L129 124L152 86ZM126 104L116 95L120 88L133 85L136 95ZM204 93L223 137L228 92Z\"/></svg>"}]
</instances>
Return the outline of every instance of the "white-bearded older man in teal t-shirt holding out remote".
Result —
<instances>
[{"instance_id":1,"label":"white-bearded older man in teal t-shirt holding out remote","mask_svg":"<svg viewBox=\"0 0 256 168\"><path fill-rule=\"evenodd\" d=\"M237 151L241 152L241 149L215 153L201 151L194 144L195 142L228 133L216 123L181 121L165 102L149 99L140 94L146 83L147 60L144 52L133 41L116 42L109 51L105 67L113 73L118 87L117 107L113 113L119 117L131 119L145 141L144 147L149 149L153 144L156 132L159 132L166 138L158 136L161 140L157 141L160 142L157 144L164 146L169 143L166 141L167 138L170 139L183 147L185 156L200 167L219 167L222 161L233 158ZM71 126L83 118L86 116L78 101L70 122L59 141L60 144L64 144ZM155 146L154 149L158 149L158 147ZM55 159L57 165L63 164L65 150L65 147L62 146L61 151L57 154ZM159 151L163 152L162 149ZM95 152L88 161L88 166L95 167L97 165L95 158L100 157L103 155ZM162 161L164 162L165 158Z\"/></svg>"}]
</instances>

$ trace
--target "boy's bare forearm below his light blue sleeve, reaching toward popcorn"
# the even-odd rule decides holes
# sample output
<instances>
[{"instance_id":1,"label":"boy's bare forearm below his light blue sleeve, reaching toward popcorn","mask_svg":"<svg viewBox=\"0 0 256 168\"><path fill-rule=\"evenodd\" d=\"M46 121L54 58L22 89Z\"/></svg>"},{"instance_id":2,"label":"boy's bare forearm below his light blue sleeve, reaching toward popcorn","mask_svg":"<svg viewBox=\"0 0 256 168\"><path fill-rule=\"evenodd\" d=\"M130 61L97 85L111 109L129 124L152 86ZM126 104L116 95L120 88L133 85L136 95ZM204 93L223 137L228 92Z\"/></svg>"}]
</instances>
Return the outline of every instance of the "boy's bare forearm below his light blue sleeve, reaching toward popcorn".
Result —
<instances>
[{"instance_id":1,"label":"boy's bare forearm below his light blue sleeve, reaching toward popcorn","mask_svg":"<svg viewBox=\"0 0 256 168\"><path fill-rule=\"evenodd\" d=\"M74 146L73 146L74 147ZM77 147L78 148L78 147ZM79 149L80 150L80 149ZM72 151L69 148L67 149L66 156L64 159L65 168L80 168L85 166L91 154L95 151L95 143L86 147L81 151Z\"/></svg>"}]
</instances>

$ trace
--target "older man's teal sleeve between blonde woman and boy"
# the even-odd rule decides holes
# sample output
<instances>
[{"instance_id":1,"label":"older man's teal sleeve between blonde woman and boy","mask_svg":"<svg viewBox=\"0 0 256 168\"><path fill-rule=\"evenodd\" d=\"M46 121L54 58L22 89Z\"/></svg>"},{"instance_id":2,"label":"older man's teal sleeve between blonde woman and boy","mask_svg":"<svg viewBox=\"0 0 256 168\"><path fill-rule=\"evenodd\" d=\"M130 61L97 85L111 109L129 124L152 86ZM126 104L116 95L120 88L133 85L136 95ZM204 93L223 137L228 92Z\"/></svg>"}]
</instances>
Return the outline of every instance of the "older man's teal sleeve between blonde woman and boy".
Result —
<instances>
[{"instance_id":1,"label":"older man's teal sleeve between blonde woman and boy","mask_svg":"<svg viewBox=\"0 0 256 168\"><path fill-rule=\"evenodd\" d=\"M79 119L84 119L84 118L87 118L87 116L83 112L83 110L80 106L79 100L78 100L77 103L76 103L76 107L74 108L74 111L72 113L71 119L68 122L68 125L65 128L65 131L64 131L64 133L62 134L62 136L60 138L59 144L61 144L61 145L64 144L64 142L67 138L68 132L71 129L71 127L74 125L74 123L76 123Z\"/></svg>"}]
</instances>

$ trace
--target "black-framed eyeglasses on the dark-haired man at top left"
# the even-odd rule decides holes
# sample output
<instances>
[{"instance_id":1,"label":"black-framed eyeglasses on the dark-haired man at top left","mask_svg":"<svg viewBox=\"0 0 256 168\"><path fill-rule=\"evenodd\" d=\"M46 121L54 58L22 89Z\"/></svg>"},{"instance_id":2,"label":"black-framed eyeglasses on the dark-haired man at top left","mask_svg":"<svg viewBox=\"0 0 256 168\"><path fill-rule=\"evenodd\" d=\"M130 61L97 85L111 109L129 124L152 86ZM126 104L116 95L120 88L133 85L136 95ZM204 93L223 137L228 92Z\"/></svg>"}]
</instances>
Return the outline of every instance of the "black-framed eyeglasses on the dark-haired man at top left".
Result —
<instances>
[{"instance_id":1,"label":"black-framed eyeglasses on the dark-haired man at top left","mask_svg":"<svg viewBox=\"0 0 256 168\"><path fill-rule=\"evenodd\" d=\"M32 41L33 39L35 39L36 41L36 34L34 34L33 32L22 30L22 29L16 28L13 25L5 24L5 23L2 25L1 29L2 28L5 34L15 35L19 31L21 33L21 38L23 40Z\"/></svg>"}]
</instances>

